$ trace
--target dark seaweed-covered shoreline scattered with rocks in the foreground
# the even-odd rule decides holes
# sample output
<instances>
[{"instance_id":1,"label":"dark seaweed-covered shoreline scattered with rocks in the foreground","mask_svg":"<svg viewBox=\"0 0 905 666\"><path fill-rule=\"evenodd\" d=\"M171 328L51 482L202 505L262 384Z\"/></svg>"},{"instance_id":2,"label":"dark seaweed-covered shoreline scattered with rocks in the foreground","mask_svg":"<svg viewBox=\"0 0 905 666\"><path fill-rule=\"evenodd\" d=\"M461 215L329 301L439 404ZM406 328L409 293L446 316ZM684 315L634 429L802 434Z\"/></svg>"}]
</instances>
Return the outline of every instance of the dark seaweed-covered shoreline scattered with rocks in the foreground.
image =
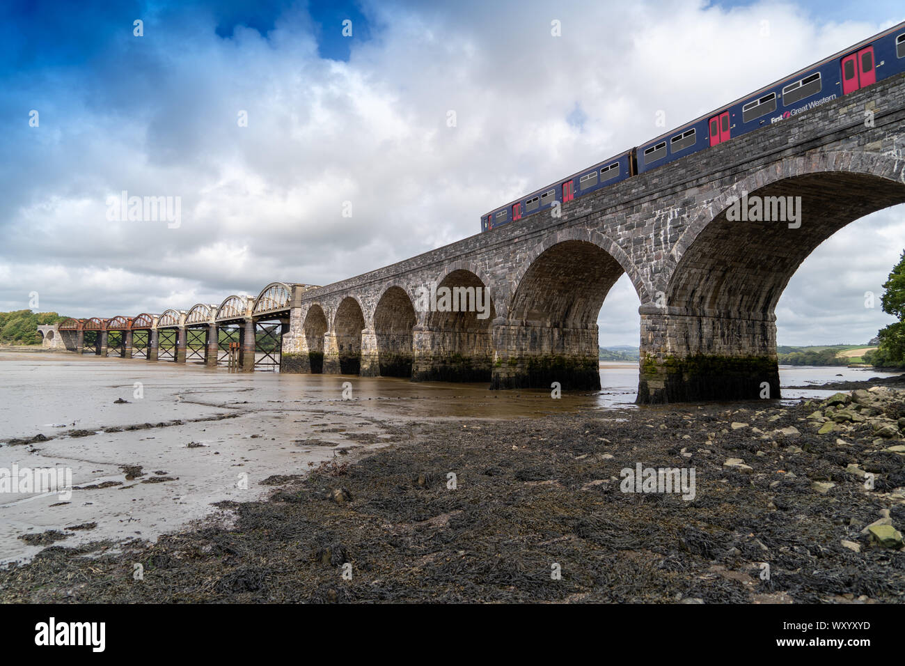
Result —
<instances>
[{"instance_id":1,"label":"dark seaweed-covered shoreline scattered with rocks in the foreground","mask_svg":"<svg viewBox=\"0 0 905 666\"><path fill-rule=\"evenodd\" d=\"M901 603L867 528L905 526L905 392L859 395L384 424L157 543L50 545L0 601ZM694 468L694 498L623 492L638 464Z\"/></svg>"}]
</instances>

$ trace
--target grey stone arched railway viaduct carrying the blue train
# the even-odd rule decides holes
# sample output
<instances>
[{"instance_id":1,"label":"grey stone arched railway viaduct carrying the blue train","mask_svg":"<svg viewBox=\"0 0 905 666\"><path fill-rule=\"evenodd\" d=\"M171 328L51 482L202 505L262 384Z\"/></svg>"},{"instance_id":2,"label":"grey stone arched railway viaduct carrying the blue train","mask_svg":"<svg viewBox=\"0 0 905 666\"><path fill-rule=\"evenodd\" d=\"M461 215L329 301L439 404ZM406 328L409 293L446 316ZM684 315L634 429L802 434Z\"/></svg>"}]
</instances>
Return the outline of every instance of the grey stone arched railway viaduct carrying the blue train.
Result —
<instances>
[{"instance_id":1,"label":"grey stone arched railway viaduct carrying the blue train","mask_svg":"<svg viewBox=\"0 0 905 666\"><path fill-rule=\"evenodd\" d=\"M758 198L788 201L800 217L732 215ZM905 74L767 118L567 202L560 217L525 217L332 285L283 285L279 310L257 319L256 299L231 319L207 306L213 314L195 325L241 324L246 369L255 322L275 313L282 372L594 389L597 315L627 273L641 301L639 402L776 398L775 308L795 269L841 227L902 202ZM490 302L483 312L424 307L425 291L442 287L483 290ZM190 311L172 312L167 325L187 331Z\"/></svg>"}]
</instances>

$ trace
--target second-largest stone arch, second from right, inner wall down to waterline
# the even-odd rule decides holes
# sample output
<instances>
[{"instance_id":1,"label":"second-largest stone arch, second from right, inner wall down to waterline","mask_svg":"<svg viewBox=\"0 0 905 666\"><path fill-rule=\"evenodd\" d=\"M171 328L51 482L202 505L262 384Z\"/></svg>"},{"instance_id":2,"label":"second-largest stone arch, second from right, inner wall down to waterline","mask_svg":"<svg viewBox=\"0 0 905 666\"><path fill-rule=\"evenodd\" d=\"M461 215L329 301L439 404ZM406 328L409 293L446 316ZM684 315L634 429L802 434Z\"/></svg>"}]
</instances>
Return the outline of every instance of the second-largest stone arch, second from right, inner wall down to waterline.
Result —
<instances>
[{"instance_id":1,"label":"second-largest stone arch, second from right, inner wall down to waterline","mask_svg":"<svg viewBox=\"0 0 905 666\"><path fill-rule=\"evenodd\" d=\"M519 273L494 332L495 388L600 388L597 315L625 270L589 235L576 236L545 240Z\"/></svg>"}]
</instances>

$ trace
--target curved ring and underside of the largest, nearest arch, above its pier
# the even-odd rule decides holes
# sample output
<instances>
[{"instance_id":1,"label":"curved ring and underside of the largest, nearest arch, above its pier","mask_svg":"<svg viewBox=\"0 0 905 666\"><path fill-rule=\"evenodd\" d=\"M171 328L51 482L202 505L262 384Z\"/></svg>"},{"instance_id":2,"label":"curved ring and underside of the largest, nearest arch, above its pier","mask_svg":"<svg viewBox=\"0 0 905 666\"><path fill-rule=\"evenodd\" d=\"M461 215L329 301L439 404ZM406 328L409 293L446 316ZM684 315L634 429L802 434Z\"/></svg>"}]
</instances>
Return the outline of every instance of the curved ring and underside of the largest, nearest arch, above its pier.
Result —
<instances>
[{"instance_id":1,"label":"curved ring and underside of the largest, nearest arch, above its pier","mask_svg":"<svg viewBox=\"0 0 905 666\"><path fill-rule=\"evenodd\" d=\"M669 312L772 321L789 279L817 246L854 220L905 202L903 166L878 154L830 152L738 181L691 221L673 248L663 289ZM729 220L733 202L751 206L756 197L800 197L800 221Z\"/></svg>"}]
</instances>

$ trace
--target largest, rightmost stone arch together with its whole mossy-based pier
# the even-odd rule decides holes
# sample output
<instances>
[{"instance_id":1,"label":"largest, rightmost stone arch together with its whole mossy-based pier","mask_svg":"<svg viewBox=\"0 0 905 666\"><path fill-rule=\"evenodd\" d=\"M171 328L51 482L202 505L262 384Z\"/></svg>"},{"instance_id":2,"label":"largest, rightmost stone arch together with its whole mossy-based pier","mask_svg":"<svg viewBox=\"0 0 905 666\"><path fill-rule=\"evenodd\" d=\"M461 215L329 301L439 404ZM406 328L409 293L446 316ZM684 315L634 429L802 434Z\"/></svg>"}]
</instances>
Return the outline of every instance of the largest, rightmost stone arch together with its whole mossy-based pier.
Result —
<instances>
[{"instance_id":1,"label":"largest, rightmost stone arch together with its whole mossy-based pier","mask_svg":"<svg viewBox=\"0 0 905 666\"><path fill-rule=\"evenodd\" d=\"M905 202L903 166L870 152L818 153L760 169L713 198L667 257L662 307L642 311L638 400L780 397L780 296L826 238ZM736 219L756 204L767 220Z\"/></svg>"}]
</instances>

